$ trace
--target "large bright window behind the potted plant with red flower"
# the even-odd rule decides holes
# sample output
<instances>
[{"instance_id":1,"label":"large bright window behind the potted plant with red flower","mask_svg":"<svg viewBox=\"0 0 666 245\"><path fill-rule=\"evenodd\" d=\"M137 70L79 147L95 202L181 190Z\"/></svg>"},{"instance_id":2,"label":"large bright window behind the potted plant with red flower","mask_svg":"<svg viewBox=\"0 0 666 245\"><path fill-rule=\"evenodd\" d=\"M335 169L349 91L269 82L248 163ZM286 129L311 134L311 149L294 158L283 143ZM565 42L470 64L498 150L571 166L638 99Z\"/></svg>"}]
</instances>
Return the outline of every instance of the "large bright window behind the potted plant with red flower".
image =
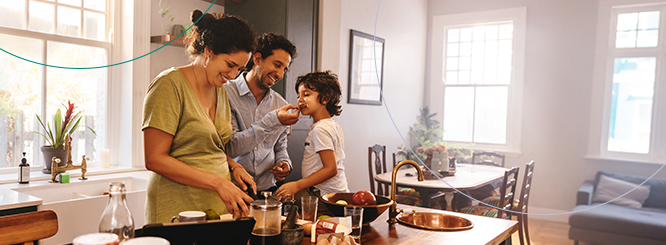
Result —
<instances>
[{"instance_id":1,"label":"large bright window behind the potted plant with red flower","mask_svg":"<svg viewBox=\"0 0 666 245\"><path fill-rule=\"evenodd\" d=\"M0 47L25 59L53 66L92 67L110 63L112 1L12 0L0 1ZM61 69L24 61L0 52L0 169L14 168L21 152L28 161L44 166L44 145L35 118L53 121L67 101L84 115L72 135L72 160L92 159L106 148L108 68Z\"/></svg>"}]
</instances>

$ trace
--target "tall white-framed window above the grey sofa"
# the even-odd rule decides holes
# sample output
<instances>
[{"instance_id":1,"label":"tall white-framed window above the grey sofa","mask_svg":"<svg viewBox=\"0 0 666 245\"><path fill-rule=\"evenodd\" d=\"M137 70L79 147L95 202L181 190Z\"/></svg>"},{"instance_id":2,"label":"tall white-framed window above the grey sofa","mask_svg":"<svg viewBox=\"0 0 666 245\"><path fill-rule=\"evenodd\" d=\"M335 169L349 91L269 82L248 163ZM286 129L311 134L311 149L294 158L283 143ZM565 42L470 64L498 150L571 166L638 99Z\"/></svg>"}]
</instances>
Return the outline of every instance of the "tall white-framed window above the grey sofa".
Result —
<instances>
[{"instance_id":1,"label":"tall white-framed window above the grey sofa","mask_svg":"<svg viewBox=\"0 0 666 245\"><path fill-rule=\"evenodd\" d=\"M605 68L596 74L604 88L597 99L603 101L603 113L592 118L601 127L592 134L590 154L661 162L666 159L666 87L660 86L666 81L660 69L666 58L666 4L607 8L610 18L599 28L610 31L599 34L605 52L597 56Z\"/></svg>"}]
</instances>

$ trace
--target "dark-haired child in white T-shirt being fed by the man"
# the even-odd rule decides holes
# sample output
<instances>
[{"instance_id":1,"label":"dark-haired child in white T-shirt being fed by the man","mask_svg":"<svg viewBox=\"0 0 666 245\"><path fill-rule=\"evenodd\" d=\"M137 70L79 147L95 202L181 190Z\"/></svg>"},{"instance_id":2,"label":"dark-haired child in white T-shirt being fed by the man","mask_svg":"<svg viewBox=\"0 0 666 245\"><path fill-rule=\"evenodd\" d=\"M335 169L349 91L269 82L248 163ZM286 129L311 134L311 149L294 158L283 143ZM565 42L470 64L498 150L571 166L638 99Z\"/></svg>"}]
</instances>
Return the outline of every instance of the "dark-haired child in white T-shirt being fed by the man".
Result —
<instances>
[{"instance_id":1,"label":"dark-haired child in white T-shirt being fed by the man","mask_svg":"<svg viewBox=\"0 0 666 245\"><path fill-rule=\"evenodd\" d=\"M338 77L330 71L300 76L296 80L296 92L301 113L311 116L314 124L305 139L301 166L303 178L283 184L276 194L291 194L299 198L303 195L349 192L342 165L345 159L344 136L340 125L331 118L342 112L342 107L338 105L342 95Z\"/></svg>"}]
</instances>

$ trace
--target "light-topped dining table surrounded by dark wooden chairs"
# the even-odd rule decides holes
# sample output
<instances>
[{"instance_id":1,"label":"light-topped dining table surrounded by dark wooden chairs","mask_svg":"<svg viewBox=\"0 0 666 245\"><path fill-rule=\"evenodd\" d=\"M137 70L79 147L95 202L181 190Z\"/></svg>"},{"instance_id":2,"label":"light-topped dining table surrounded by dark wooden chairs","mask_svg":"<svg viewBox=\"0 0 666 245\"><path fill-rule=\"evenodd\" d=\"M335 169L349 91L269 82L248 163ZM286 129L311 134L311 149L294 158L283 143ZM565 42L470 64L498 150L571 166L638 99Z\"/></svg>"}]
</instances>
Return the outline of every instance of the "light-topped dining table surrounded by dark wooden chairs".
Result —
<instances>
[{"instance_id":1,"label":"light-topped dining table surrounded by dark wooden chairs","mask_svg":"<svg viewBox=\"0 0 666 245\"><path fill-rule=\"evenodd\" d=\"M418 180L418 173L413 167L404 167L398 170L396 185L399 187L414 188L419 192L419 199L424 207L429 207L430 197L438 192L445 193L446 210L452 210L453 194L456 191L469 191L478 189L487 184L499 181L508 170L499 166L478 164L457 164L455 174L441 178ZM429 171L423 168L423 171ZM375 180L391 185L391 172L375 175Z\"/></svg>"}]
</instances>

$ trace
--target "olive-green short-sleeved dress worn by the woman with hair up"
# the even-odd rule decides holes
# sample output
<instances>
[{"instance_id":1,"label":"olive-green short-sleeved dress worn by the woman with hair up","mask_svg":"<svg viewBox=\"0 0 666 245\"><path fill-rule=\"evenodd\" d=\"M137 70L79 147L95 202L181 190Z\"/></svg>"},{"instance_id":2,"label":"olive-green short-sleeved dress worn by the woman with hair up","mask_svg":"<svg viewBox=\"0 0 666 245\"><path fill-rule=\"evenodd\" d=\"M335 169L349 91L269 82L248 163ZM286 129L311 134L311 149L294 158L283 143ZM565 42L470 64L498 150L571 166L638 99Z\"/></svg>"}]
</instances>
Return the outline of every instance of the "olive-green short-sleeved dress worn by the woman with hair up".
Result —
<instances>
[{"instance_id":1,"label":"olive-green short-sleeved dress worn by the woman with hair up","mask_svg":"<svg viewBox=\"0 0 666 245\"><path fill-rule=\"evenodd\" d=\"M141 130L156 128L173 135L169 155L196 169L231 180L224 145L232 135L227 93L217 89L215 123L185 75L176 68L152 81L143 103ZM145 145L150 147L150 145ZM214 209L228 213L217 192L174 182L155 172L148 180L146 223L168 223L181 211Z\"/></svg>"}]
</instances>

